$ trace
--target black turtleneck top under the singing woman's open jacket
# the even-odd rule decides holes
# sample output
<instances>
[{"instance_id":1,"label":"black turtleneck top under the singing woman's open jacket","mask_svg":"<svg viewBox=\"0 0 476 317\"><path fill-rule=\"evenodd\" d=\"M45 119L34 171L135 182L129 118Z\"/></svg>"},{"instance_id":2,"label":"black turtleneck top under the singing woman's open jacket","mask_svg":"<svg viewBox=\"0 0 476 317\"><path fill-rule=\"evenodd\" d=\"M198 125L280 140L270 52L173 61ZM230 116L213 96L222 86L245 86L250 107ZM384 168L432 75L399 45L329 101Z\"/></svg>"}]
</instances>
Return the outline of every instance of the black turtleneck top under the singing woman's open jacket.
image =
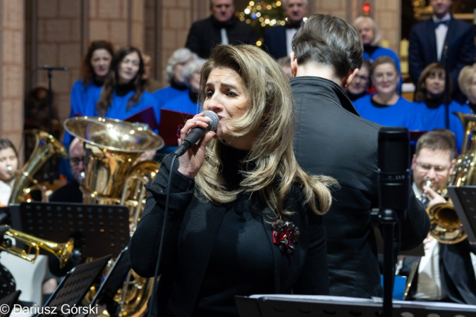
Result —
<instances>
[{"instance_id":1,"label":"black turtleneck top under the singing woman's open jacket","mask_svg":"<svg viewBox=\"0 0 476 317\"><path fill-rule=\"evenodd\" d=\"M231 189L238 189L249 151L220 144L222 175ZM255 195L239 194L227 204L216 235L194 317L238 316L235 295L274 293L274 260L263 228L262 206ZM269 225L269 224L267 224Z\"/></svg>"}]
</instances>

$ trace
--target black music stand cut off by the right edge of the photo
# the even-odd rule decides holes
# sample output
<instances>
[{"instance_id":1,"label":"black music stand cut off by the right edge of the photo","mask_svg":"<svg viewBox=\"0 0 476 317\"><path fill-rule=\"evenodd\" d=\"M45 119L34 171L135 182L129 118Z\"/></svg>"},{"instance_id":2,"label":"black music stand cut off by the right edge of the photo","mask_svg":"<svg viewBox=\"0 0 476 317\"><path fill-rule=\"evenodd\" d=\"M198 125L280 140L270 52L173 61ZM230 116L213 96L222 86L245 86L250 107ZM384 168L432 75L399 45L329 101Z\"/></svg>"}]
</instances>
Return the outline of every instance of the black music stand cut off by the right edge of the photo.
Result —
<instances>
[{"instance_id":1,"label":"black music stand cut off by the right edge of the photo","mask_svg":"<svg viewBox=\"0 0 476 317\"><path fill-rule=\"evenodd\" d=\"M476 186L448 186L448 194L468 234L468 241L476 242Z\"/></svg>"}]
</instances>

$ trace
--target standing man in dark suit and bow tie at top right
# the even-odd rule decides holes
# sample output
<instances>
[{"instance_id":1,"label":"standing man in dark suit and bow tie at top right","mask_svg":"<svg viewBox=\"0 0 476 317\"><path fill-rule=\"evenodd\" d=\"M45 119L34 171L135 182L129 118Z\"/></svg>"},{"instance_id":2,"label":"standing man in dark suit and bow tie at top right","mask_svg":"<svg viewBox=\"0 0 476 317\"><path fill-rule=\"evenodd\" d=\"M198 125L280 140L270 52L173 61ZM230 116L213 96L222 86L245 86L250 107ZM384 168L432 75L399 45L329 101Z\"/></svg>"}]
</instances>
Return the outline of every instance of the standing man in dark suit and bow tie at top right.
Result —
<instances>
[{"instance_id":1,"label":"standing man in dark suit and bow tie at top right","mask_svg":"<svg viewBox=\"0 0 476 317\"><path fill-rule=\"evenodd\" d=\"M463 103L465 97L458 87L461 68L472 65L475 58L475 32L469 23L453 18L451 0L430 0L434 14L410 30L408 64L413 82L431 63L446 65L453 85L452 97Z\"/></svg>"}]
</instances>

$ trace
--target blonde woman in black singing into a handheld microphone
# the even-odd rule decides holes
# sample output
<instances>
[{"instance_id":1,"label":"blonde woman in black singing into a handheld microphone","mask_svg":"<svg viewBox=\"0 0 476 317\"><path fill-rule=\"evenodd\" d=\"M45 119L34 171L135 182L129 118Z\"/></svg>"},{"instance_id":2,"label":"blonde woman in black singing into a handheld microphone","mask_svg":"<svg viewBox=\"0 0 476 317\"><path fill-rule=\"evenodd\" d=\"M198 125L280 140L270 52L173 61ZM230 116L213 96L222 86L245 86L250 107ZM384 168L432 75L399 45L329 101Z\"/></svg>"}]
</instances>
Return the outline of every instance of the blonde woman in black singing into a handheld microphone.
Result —
<instances>
[{"instance_id":1,"label":"blonde woman in black singing into a handheld microphone","mask_svg":"<svg viewBox=\"0 0 476 317\"><path fill-rule=\"evenodd\" d=\"M256 46L219 45L202 68L199 101L218 129L174 166L164 159L129 244L135 272L152 277L173 168L153 315L238 316L236 295L328 294L322 214L336 182L295 160L288 77ZM197 114L180 139L208 122Z\"/></svg>"}]
</instances>

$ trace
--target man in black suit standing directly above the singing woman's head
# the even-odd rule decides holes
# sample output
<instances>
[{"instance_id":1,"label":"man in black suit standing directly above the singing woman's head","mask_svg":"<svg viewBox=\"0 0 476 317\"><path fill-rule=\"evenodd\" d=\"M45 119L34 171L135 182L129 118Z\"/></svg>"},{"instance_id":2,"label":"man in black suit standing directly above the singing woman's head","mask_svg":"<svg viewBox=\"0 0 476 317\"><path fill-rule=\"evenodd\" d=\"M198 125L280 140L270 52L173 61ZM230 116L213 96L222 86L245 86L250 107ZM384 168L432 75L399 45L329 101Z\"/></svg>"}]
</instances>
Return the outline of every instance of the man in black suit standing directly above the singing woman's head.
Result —
<instances>
[{"instance_id":1,"label":"man in black suit standing directly above the singing woman's head","mask_svg":"<svg viewBox=\"0 0 476 317\"><path fill-rule=\"evenodd\" d=\"M255 30L235 16L233 0L210 0L212 15L193 23L185 47L208 58L217 44L256 44Z\"/></svg>"}]
</instances>

